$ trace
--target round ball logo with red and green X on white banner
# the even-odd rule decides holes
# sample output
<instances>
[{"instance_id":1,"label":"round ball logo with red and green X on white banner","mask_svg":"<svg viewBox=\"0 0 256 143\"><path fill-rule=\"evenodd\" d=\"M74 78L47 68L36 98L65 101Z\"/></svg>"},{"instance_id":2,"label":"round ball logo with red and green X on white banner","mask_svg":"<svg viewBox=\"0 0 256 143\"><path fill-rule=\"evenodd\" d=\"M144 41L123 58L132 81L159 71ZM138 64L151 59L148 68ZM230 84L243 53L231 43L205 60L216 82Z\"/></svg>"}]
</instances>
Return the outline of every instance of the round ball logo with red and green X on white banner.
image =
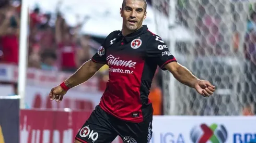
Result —
<instances>
[{"instance_id":1,"label":"round ball logo with red and green X on white banner","mask_svg":"<svg viewBox=\"0 0 256 143\"><path fill-rule=\"evenodd\" d=\"M194 126L190 132L190 139L193 143L225 143L227 138L228 133L225 126L215 123L210 126L206 124Z\"/></svg>"}]
</instances>

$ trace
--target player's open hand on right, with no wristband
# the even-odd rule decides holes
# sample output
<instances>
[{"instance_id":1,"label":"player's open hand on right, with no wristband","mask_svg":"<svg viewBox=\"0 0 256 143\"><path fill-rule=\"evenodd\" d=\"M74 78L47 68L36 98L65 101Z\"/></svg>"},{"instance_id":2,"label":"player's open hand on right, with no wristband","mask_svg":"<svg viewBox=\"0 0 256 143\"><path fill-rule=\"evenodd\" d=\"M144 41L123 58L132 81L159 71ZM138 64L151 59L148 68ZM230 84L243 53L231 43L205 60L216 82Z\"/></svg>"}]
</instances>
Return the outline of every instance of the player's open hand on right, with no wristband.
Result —
<instances>
[{"instance_id":1,"label":"player's open hand on right, with no wristband","mask_svg":"<svg viewBox=\"0 0 256 143\"><path fill-rule=\"evenodd\" d=\"M196 89L197 93L201 94L204 97L208 97L215 92L215 86L213 86L208 81L198 80L194 88Z\"/></svg>"}]
</instances>

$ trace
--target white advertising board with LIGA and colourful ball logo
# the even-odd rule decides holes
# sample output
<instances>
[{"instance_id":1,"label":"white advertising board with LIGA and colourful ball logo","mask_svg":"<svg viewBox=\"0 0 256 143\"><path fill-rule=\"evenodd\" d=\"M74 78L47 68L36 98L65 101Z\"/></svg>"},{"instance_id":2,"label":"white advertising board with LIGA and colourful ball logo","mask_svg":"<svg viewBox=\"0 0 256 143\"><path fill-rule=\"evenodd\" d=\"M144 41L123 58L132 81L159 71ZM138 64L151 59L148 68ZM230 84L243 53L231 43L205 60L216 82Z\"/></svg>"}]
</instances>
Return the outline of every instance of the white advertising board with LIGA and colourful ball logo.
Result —
<instances>
[{"instance_id":1,"label":"white advertising board with LIGA and colourful ball logo","mask_svg":"<svg viewBox=\"0 0 256 143\"><path fill-rule=\"evenodd\" d=\"M154 116L150 142L253 143L256 116Z\"/></svg>"}]
</instances>

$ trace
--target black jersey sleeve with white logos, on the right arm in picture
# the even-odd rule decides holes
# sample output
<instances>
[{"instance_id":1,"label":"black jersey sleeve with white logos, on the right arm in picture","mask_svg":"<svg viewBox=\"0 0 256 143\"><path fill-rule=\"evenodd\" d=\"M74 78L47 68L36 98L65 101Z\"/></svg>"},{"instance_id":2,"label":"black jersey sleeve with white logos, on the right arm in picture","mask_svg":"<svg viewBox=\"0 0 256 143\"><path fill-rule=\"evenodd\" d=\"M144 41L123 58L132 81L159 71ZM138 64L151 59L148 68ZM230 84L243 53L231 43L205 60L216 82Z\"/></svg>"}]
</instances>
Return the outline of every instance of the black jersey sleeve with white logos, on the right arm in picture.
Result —
<instances>
[{"instance_id":1,"label":"black jersey sleeve with white logos, on the right arm in picture","mask_svg":"<svg viewBox=\"0 0 256 143\"><path fill-rule=\"evenodd\" d=\"M174 56L171 55L168 46L158 35L154 35L149 39L146 55L150 61L156 62L162 70L166 70L166 64L170 62L177 62Z\"/></svg>"}]
</instances>

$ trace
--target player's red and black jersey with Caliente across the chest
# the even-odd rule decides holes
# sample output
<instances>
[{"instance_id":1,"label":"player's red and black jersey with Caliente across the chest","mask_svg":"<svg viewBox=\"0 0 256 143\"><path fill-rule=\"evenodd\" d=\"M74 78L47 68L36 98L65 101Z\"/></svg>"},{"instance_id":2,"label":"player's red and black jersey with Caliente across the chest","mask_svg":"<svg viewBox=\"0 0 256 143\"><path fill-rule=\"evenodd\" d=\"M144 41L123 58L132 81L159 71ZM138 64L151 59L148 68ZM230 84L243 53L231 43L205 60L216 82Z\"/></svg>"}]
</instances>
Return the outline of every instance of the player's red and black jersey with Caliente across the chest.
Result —
<instances>
[{"instance_id":1,"label":"player's red and black jersey with Caliente across the chest","mask_svg":"<svg viewBox=\"0 0 256 143\"><path fill-rule=\"evenodd\" d=\"M164 41L143 25L126 36L121 31L110 33L92 61L109 66L100 107L121 120L139 123L153 115L148 94L157 66L166 70L164 66L176 59Z\"/></svg>"}]
</instances>

